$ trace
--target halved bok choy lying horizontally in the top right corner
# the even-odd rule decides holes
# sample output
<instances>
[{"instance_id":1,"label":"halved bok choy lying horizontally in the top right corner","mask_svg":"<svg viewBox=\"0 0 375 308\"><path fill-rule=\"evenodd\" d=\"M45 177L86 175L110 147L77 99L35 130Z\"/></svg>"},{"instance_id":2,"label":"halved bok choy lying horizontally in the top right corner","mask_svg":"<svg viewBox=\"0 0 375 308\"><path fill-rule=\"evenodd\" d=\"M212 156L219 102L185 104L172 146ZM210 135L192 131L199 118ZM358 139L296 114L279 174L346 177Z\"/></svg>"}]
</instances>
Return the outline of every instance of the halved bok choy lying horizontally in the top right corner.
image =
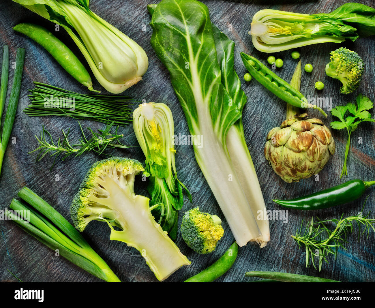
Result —
<instances>
[{"instance_id":1,"label":"halved bok choy lying horizontally in the top right corner","mask_svg":"<svg viewBox=\"0 0 375 308\"><path fill-rule=\"evenodd\" d=\"M317 43L341 43L375 34L375 9L345 3L314 15L260 10L251 22L252 42L259 51L278 52Z\"/></svg>"}]
</instances>

